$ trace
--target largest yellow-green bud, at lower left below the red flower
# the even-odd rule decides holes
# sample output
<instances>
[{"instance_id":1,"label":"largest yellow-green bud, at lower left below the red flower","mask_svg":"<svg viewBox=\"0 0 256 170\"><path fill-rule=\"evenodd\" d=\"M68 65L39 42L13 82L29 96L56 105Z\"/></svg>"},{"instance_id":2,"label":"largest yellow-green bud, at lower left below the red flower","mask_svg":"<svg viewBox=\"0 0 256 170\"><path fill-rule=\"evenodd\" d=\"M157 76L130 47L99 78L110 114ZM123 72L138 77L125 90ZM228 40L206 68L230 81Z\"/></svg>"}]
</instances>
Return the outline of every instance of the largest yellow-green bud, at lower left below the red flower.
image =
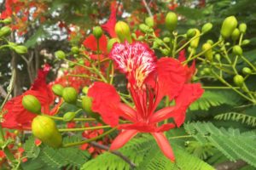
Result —
<instances>
[{"instance_id":1,"label":"largest yellow-green bud, at lower left below the red flower","mask_svg":"<svg viewBox=\"0 0 256 170\"><path fill-rule=\"evenodd\" d=\"M32 121L32 133L44 144L53 148L62 145L61 133L59 133L55 122L48 116L36 116Z\"/></svg>"}]
</instances>

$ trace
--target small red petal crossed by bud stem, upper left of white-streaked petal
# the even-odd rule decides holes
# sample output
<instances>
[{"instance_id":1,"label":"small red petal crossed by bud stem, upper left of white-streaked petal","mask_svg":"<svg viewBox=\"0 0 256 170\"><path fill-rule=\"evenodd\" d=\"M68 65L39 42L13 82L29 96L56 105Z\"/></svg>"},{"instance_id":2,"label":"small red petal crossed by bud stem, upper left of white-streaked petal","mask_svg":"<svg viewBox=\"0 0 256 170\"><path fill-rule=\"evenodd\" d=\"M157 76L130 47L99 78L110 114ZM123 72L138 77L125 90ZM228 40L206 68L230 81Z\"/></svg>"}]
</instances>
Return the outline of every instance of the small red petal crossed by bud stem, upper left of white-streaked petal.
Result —
<instances>
[{"instance_id":1,"label":"small red petal crossed by bud stem, upper left of white-streaked petal","mask_svg":"<svg viewBox=\"0 0 256 170\"><path fill-rule=\"evenodd\" d=\"M87 37L84 42L84 47L89 48L90 50L96 52L97 51L97 41L96 37L94 37L92 34L90 34L89 37ZM108 39L105 35L102 35L99 39L99 49L102 51L102 53L106 54L107 53L107 44L108 44Z\"/></svg>"}]
</instances>

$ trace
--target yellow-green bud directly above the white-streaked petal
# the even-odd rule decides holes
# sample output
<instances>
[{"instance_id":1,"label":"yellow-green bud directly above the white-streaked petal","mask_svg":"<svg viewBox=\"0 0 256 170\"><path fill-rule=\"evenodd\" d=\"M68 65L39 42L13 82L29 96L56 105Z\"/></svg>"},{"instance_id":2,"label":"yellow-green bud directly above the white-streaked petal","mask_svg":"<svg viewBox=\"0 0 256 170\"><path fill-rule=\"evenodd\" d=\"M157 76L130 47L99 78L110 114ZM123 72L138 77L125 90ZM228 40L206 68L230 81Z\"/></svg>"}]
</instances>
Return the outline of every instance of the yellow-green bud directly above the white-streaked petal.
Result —
<instances>
[{"instance_id":1,"label":"yellow-green bud directly above the white-streaked petal","mask_svg":"<svg viewBox=\"0 0 256 170\"><path fill-rule=\"evenodd\" d=\"M125 22L118 21L114 26L114 31L119 37L120 42L125 42L126 40L131 43L130 27Z\"/></svg>"}]
</instances>

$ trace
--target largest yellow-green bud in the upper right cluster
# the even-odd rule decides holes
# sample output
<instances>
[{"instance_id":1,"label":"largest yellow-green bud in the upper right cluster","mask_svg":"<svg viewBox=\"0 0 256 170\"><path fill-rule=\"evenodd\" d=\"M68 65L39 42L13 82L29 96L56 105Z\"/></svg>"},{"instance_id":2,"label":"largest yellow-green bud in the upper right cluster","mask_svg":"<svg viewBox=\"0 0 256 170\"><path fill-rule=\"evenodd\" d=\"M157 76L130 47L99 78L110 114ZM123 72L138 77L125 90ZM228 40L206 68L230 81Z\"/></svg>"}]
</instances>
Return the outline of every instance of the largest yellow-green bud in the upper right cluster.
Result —
<instances>
[{"instance_id":1,"label":"largest yellow-green bud in the upper right cluster","mask_svg":"<svg viewBox=\"0 0 256 170\"><path fill-rule=\"evenodd\" d=\"M232 32L236 29L236 26L237 26L237 20L235 16L230 16L225 18L220 30L221 36L224 37L224 39L229 38Z\"/></svg>"}]
</instances>

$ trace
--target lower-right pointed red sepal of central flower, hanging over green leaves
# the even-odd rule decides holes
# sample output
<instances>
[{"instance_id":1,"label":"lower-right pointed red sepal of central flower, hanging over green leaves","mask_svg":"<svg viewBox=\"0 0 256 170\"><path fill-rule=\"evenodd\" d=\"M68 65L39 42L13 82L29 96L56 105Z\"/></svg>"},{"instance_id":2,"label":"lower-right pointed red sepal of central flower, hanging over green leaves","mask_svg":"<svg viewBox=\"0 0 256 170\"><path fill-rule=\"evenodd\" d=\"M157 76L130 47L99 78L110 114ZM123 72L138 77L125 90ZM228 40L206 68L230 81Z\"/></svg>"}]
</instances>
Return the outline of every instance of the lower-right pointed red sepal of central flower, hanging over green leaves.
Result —
<instances>
[{"instance_id":1,"label":"lower-right pointed red sepal of central flower, hanging over green leaves","mask_svg":"<svg viewBox=\"0 0 256 170\"><path fill-rule=\"evenodd\" d=\"M156 140L163 154L167 158L169 158L171 161L175 161L172 147L169 144L169 141L166 139L166 136L163 133L151 133L151 134L154 136L154 139Z\"/></svg>"}]
</instances>

